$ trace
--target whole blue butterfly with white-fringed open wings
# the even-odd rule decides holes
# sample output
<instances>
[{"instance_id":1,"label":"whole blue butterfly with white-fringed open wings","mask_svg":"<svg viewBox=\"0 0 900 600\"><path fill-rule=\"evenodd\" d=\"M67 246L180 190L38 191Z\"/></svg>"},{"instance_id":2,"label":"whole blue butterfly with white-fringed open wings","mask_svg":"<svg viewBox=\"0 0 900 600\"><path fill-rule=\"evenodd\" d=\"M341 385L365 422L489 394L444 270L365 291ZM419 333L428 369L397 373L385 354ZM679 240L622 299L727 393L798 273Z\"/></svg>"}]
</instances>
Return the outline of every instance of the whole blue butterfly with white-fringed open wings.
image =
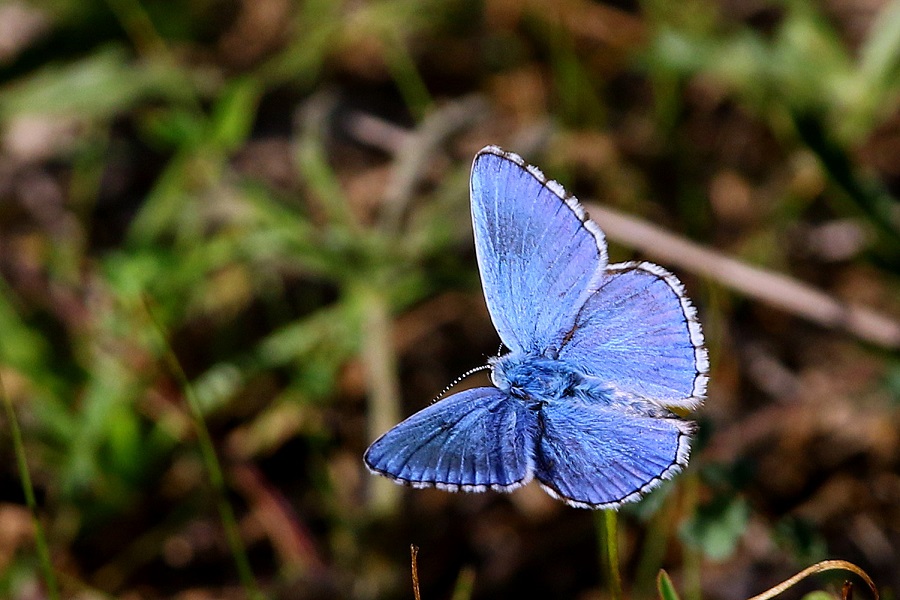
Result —
<instances>
[{"instance_id":1,"label":"whole blue butterfly with white-fringed open wings","mask_svg":"<svg viewBox=\"0 0 900 600\"><path fill-rule=\"evenodd\" d=\"M488 146L471 179L484 296L507 354L494 387L435 402L377 439L368 468L413 487L509 491L537 478L584 508L617 508L687 465L709 360L674 275L609 264L578 201Z\"/></svg>"}]
</instances>

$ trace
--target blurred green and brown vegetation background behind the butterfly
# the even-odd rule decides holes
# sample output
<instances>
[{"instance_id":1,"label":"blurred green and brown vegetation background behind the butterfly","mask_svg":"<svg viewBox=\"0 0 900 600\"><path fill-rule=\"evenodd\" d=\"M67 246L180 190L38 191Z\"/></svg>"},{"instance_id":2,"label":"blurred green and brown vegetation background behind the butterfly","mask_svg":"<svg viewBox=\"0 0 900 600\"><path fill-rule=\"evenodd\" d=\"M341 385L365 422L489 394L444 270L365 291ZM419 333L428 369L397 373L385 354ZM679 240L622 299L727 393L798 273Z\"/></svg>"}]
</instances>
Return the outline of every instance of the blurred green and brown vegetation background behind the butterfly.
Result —
<instances>
[{"instance_id":1,"label":"blurred green and brown vegetation background behind the butterfly","mask_svg":"<svg viewBox=\"0 0 900 600\"><path fill-rule=\"evenodd\" d=\"M608 597L590 511L361 460L497 351L467 183L499 144L707 251L609 232L712 359L690 469L621 511L626 589L843 558L895 598L898 98L885 0L4 0L0 376L60 595L411 598L414 543L428 600ZM0 597L44 598L12 425Z\"/></svg>"}]
</instances>

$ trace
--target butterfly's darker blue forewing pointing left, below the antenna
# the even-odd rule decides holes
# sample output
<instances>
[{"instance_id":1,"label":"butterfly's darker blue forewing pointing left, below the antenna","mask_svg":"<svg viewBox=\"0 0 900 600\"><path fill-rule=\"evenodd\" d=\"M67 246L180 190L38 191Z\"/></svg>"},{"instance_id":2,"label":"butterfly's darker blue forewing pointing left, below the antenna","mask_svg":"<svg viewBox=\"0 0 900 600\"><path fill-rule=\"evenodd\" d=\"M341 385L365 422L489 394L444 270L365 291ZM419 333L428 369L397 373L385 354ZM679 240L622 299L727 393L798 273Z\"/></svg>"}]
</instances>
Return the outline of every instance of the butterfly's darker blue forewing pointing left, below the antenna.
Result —
<instances>
[{"instance_id":1,"label":"butterfly's darker blue forewing pointing left, below the antenna","mask_svg":"<svg viewBox=\"0 0 900 600\"><path fill-rule=\"evenodd\" d=\"M366 450L374 473L413 487L510 490L531 479L537 421L496 388L453 394L412 415Z\"/></svg>"}]
</instances>

